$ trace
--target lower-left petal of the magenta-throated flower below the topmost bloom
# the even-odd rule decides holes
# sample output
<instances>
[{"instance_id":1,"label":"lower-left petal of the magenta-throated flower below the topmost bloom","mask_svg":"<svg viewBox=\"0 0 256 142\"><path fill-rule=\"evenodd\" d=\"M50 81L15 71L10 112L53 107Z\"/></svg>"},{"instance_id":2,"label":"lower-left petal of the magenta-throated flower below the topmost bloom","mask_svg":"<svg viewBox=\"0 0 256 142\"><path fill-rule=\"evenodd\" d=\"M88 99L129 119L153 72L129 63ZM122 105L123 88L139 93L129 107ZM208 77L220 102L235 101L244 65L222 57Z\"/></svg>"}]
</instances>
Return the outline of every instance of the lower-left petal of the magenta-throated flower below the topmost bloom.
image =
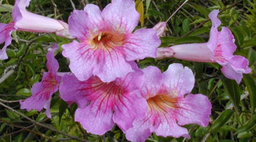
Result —
<instances>
[{"instance_id":1,"label":"lower-left petal of the magenta-throated flower below the topmost bloom","mask_svg":"<svg viewBox=\"0 0 256 142\"><path fill-rule=\"evenodd\" d=\"M101 106L90 105L84 109L77 109L75 121L80 122L87 132L103 135L114 126L112 109L105 105L103 102Z\"/></svg>"}]
</instances>

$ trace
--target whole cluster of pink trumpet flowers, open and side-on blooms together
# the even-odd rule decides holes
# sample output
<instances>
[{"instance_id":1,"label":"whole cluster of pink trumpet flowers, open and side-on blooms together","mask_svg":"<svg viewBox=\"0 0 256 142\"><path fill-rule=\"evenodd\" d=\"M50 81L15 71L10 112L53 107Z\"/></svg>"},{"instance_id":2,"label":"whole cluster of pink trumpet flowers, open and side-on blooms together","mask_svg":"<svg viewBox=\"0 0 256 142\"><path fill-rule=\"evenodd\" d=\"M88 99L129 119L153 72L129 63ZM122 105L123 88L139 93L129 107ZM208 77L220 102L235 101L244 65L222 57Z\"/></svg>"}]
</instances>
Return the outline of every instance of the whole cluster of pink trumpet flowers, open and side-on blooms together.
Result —
<instances>
[{"instance_id":1,"label":"whole cluster of pink trumpet flowers, open and side-on blooms together","mask_svg":"<svg viewBox=\"0 0 256 142\"><path fill-rule=\"evenodd\" d=\"M134 60L174 57L217 62L223 66L223 74L238 83L242 73L251 71L244 57L233 55L236 46L229 29L218 31L221 22L217 10L209 15L212 28L207 43L158 48L166 22L134 31L139 13L133 0L112 0L103 11L87 4L84 10L71 13L68 24L26 11L29 3L16 0L14 21L0 24L0 43L5 42L0 59L7 59L5 50L15 30L51 32L77 40L62 45L70 73L58 72L54 58L57 45L48 51L48 72L33 85L32 96L20 102L21 109L45 108L50 118L50 101L59 90L61 99L78 105L75 121L93 134L103 135L116 124L128 140L143 142L151 133L189 138L183 125L208 125L211 103L205 95L190 94L195 83L192 70L177 63L163 73L153 66L142 70Z\"/></svg>"}]
</instances>

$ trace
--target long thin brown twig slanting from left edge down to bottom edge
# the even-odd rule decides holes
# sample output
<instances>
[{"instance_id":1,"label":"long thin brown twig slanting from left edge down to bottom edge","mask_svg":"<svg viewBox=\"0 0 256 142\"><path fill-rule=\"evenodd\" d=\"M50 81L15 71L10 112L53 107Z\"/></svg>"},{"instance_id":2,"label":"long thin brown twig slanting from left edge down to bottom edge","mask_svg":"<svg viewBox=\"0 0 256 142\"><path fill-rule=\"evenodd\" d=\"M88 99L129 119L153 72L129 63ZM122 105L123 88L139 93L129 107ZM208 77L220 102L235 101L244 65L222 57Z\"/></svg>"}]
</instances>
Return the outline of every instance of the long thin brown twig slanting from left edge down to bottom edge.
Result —
<instances>
[{"instance_id":1,"label":"long thin brown twig slanting from left edge down to bottom edge","mask_svg":"<svg viewBox=\"0 0 256 142\"><path fill-rule=\"evenodd\" d=\"M38 125L38 126L47 128L47 129L52 130L52 131L54 131L54 132L57 132L57 133L59 133L59 134L65 135L65 136L67 136L67 137L69 137L69 138L76 139L76 140L78 140L78 141L90 142L90 141L87 141L87 140L85 140L85 139L81 139L81 138L75 137L75 136L73 136L73 135L69 135L69 134L67 134L67 133L64 133L63 131L56 130L56 129L54 129L54 128L52 128L52 127L49 127L49 126L47 126L47 125L38 123L38 122L34 121L33 119L30 119L30 118L27 117L26 115L20 113L19 111L16 111L16 110L12 109L11 107L9 107L9 106L7 106L7 105L1 103L1 102L0 102L0 105L3 106L3 107L5 107L6 109L9 109L9 110L13 111L13 112L16 113L16 114L19 114L20 116L26 118L27 120L29 120L30 122L32 122L32 123L35 124L35 125Z\"/></svg>"}]
</instances>

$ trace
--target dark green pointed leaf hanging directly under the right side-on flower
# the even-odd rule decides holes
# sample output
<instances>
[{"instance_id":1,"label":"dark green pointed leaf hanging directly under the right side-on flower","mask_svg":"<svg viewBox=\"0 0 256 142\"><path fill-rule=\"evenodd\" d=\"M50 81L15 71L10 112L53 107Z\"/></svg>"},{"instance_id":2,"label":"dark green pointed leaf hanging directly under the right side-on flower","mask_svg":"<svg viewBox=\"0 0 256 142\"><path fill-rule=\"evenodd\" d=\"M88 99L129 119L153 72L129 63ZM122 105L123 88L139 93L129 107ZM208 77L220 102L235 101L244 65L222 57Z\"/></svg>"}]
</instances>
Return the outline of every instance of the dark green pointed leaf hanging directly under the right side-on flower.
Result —
<instances>
[{"instance_id":1,"label":"dark green pointed leaf hanging directly under the right side-on flower","mask_svg":"<svg viewBox=\"0 0 256 142\"><path fill-rule=\"evenodd\" d=\"M240 103L240 90L237 82L235 80L231 80L226 78L224 75L221 75L221 80L223 86L229 96L230 101L233 103L235 110L238 113L238 106Z\"/></svg>"}]
</instances>

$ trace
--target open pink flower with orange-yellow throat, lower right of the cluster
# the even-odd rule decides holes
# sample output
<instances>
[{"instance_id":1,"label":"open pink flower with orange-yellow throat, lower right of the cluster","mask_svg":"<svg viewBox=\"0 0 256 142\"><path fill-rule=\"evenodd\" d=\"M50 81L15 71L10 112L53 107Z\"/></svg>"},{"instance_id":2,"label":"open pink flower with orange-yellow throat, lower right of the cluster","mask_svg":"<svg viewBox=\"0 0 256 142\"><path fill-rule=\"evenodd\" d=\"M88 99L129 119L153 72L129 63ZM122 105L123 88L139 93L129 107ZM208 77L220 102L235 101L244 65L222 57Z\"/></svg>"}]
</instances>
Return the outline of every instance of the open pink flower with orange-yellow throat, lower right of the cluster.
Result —
<instances>
[{"instance_id":1,"label":"open pink flower with orange-yellow throat, lower right of the cluster","mask_svg":"<svg viewBox=\"0 0 256 142\"><path fill-rule=\"evenodd\" d=\"M144 142L151 133L189 138L187 129L180 125L208 125L211 103L207 96L189 94L195 78L188 67L171 64L161 74L157 67L151 66L143 72L145 82L137 93L147 100L148 109L144 118L135 119L133 127L125 132L129 141Z\"/></svg>"}]
</instances>

